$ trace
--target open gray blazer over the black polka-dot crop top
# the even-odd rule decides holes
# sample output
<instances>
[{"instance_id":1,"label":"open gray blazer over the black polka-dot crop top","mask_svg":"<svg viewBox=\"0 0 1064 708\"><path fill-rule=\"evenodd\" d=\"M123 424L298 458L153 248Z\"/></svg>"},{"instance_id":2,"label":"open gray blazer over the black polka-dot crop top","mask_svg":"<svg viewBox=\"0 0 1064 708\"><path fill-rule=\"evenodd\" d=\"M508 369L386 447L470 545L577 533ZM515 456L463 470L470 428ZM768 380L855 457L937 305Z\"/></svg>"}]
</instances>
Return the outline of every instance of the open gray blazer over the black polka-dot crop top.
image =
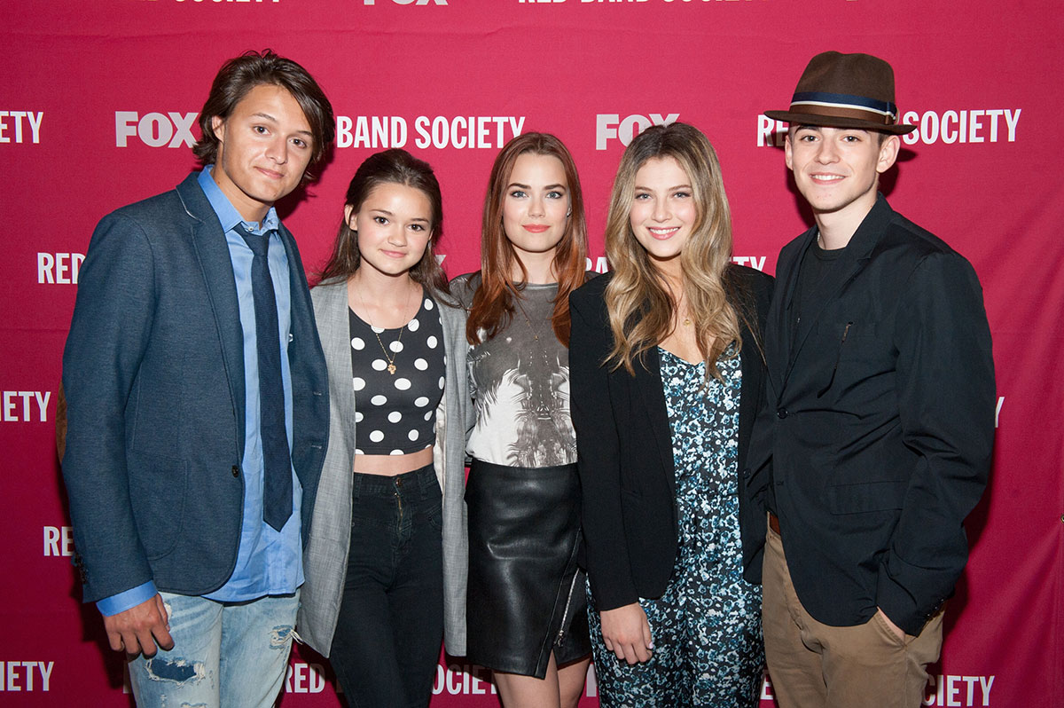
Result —
<instances>
[{"instance_id":1,"label":"open gray blazer over the black polka-dot crop top","mask_svg":"<svg viewBox=\"0 0 1064 708\"><path fill-rule=\"evenodd\" d=\"M447 382L444 399L436 409L433 448L433 463L444 494L444 639L450 654L464 656L468 560L465 441L473 423L466 378L466 315L464 310L447 307L443 296L434 297L440 306L447 352ZM296 623L300 639L328 657L336 631L351 540L355 397L351 386L347 284L318 285L311 291L311 299L329 369L329 445L303 554L306 581Z\"/></svg>"}]
</instances>

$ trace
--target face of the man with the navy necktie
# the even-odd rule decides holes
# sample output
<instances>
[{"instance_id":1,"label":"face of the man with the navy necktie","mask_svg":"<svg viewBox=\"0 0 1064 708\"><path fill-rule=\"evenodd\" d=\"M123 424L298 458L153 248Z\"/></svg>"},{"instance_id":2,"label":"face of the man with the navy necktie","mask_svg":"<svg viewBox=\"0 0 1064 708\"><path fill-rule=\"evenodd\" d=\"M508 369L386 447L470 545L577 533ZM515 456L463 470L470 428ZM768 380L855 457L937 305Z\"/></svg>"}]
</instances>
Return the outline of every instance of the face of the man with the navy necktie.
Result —
<instances>
[{"instance_id":1,"label":"face of the man with the navy necktie","mask_svg":"<svg viewBox=\"0 0 1064 708\"><path fill-rule=\"evenodd\" d=\"M214 118L218 161L211 175L248 221L261 221L275 201L296 188L311 162L313 135L286 89L260 84L227 118Z\"/></svg>"}]
</instances>

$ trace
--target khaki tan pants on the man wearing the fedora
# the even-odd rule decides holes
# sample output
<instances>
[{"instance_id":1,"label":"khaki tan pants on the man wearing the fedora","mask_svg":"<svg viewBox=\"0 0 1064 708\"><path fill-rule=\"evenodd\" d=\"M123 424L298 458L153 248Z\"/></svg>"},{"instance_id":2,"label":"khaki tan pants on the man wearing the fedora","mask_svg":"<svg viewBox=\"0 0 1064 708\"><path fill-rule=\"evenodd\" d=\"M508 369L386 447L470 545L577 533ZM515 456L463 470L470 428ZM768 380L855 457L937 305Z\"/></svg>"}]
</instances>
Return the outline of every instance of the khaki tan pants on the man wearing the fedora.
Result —
<instances>
[{"instance_id":1,"label":"khaki tan pants on the man wearing the fedora","mask_svg":"<svg viewBox=\"0 0 1064 708\"><path fill-rule=\"evenodd\" d=\"M768 529L762 614L765 657L780 708L917 708L942 649L942 611L899 639L875 614L863 625L814 620L791 583L783 543Z\"/></svg>"}]
</instances>

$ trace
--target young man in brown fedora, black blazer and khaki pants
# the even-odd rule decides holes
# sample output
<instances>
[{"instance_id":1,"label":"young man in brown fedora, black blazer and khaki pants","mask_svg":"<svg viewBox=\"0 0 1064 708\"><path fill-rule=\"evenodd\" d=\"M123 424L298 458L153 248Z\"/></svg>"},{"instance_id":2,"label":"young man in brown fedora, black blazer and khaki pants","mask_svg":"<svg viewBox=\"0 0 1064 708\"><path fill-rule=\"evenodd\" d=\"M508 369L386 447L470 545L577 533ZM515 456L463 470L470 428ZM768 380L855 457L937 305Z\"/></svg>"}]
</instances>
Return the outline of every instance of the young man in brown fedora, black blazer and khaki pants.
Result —
<instances>
[{"instance_id":1,"label":"young man in brown fedora, black blazer and khaki pants","mask_svg":"<svg viewBox=\"0 0 1064 708\"><path fill-rule=\"evenodd\" d=\"M898 155L894 71L812 59L786 164L815 225L780 252L764 490L768 671L782 708L919 706L986 485L994 362L971 265L878 193ZM785 553L785 556L784 556Z\"/></svg>"}]
</instances>

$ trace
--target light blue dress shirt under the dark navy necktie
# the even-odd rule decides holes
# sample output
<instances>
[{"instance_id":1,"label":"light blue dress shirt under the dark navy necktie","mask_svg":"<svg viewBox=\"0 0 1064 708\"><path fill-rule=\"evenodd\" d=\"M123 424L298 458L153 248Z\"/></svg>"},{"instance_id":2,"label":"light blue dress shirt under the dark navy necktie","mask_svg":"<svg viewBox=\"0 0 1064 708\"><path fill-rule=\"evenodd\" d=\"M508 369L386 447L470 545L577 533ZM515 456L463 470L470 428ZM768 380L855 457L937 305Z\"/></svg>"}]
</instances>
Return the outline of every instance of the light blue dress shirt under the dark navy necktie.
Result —
<instances>
[{"instance_id":1,"label":"light blue dress shirt under the dark navy necktie","mask_svg":"<svg viewBox=\"0 0 1064 708\"><path fill-rule=\"evenodd\" d=\"M300 509L302 487L295 470L292 472L292 516L280 531L263 521L263 446L259 416L259 350L255 340L254 296L251 290L251 261L254 254L244 237L233 230L243 223L252 233L277 229L280 220L271 207L262 224L244 221L239 212L211 177L213 165L199 175L199 185L218 216L229 256L236 278L236 295L244 331L244 390L245 440L242 470L244 473L244 517L240 526L240 545L236 566L229 580L218 590L204 595L219 602L246 602L266 595L285 595L303 583L302 540L300 538ZM292 331L292 291L288 256L277 234L269 242L269 271L277 298L278 330L281 335L281 381L284 385L284 425L292 449L292 372L288 366L288 342ZM106 615L117 614L155 595L155 583L149 580L142 586L104 597L96 606Z\"/></svg>"}]
</instances>

